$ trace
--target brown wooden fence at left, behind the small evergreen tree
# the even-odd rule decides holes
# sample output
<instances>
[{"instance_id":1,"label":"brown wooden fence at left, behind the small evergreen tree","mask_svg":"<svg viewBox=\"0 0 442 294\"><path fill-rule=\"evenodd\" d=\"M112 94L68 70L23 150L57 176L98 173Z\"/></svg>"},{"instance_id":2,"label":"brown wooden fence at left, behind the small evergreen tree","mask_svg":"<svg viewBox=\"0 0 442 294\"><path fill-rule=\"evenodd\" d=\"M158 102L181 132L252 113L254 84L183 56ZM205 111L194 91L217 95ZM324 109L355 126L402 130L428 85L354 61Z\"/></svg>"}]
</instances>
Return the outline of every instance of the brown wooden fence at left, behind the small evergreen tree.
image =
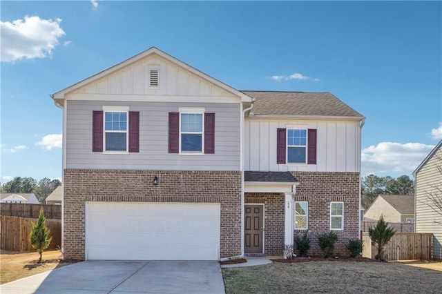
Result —
<instances>
[{"instance_id":1,"label":"brown wooden fence at left, behind the small evergreen tree","mask_svg":"<svg viewBox=\"0 0 442 294\"><path fill-rule=\"evenodd\" d=\"M3 215L0 218L0 244L2 250L20 252L35 250L30 245L28 237L32 229L32 222L37 222L37 219ZM50 229L50 236L52 236L48 249L61 246L61 219L46 219L46 226Z\"/></svg>"}]
</instances>

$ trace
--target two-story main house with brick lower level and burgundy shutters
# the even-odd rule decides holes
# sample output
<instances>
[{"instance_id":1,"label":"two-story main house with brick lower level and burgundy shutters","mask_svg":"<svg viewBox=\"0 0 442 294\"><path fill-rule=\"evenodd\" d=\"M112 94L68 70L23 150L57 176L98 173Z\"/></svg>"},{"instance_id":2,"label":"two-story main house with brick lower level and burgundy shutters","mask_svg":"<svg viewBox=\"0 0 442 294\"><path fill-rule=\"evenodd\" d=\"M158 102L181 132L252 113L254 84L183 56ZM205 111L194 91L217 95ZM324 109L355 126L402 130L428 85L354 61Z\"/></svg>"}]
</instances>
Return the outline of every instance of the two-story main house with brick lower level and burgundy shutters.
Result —
<instances>
[{"instance_id":1,"label":"two-story main house with brick lower level and burgundy shutters","mask_svg":"<svg viewBox=\"0 0 442 294\"><path fill-rule=\"evenodd\" d=\"M282 255L359 237L365 117L328 92L240 91L150 48L51 95L63 109L64 252Z\"/></svg>"}]
</instances>

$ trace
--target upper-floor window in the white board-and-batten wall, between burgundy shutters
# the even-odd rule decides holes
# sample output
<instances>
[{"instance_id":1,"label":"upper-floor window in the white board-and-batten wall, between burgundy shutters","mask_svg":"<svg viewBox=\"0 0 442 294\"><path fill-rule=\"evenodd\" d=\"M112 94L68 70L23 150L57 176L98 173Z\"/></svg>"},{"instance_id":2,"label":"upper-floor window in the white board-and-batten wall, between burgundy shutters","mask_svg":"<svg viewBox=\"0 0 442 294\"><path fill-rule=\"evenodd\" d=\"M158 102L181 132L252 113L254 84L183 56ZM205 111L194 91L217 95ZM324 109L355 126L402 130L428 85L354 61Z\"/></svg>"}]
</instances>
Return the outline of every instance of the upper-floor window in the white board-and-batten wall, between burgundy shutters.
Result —
<instances>
[{"instance_id":1,"label":"upper-floor window in the white board-and-batten wall, between burgundy shutters","mask_svg":"<svg viewBox=\"0 0 442 294\"><path fill-rule=\"evenodd\" d=\"M307 162L307 130L287 129L287 163L305 164Z\"/></svg>"}]
</instances>

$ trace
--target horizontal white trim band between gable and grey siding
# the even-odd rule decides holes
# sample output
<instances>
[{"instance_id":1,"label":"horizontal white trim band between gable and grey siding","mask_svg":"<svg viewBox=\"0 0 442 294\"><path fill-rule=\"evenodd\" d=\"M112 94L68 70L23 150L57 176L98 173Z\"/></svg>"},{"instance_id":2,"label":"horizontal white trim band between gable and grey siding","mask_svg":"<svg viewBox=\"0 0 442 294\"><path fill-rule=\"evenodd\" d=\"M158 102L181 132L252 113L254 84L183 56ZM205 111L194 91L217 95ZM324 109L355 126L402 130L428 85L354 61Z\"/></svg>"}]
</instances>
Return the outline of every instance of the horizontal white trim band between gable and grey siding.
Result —
<instances>
[{"instance_id":1,"label":"horizontal white trim band between gable and grey siding","mask_svg":"<svg viewBox=\"0 0 442 294\"><path fill-rule=\"evenodd\" d=\"M128 95L128 94L70 94L66 100L77 101L127 101L127 102L176 102L176 103L231 103L239 104L233 96L177 96L177 95Z\"/></svg>"}]
</instances>

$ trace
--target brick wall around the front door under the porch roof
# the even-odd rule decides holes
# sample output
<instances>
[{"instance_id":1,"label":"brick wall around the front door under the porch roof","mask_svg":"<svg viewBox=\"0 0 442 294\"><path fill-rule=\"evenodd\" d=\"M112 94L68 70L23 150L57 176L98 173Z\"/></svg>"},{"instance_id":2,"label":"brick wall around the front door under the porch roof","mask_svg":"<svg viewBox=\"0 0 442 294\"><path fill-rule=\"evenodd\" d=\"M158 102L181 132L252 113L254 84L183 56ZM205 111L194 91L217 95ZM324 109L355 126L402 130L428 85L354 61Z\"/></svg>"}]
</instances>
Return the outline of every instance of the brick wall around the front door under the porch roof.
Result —
<instances>
[{"instance_id":1,"label":"brick wall around the front door under the porch roof","mask_svg":"<svg viewBox=\"0 0 442 294\"><path fill-rule=\"evenodd\" d=\"M245 193L246 204L264 204L264 253L266 255L282 255L284 250L284 202L281 193Z\"/></svg>"}]
</instances>

